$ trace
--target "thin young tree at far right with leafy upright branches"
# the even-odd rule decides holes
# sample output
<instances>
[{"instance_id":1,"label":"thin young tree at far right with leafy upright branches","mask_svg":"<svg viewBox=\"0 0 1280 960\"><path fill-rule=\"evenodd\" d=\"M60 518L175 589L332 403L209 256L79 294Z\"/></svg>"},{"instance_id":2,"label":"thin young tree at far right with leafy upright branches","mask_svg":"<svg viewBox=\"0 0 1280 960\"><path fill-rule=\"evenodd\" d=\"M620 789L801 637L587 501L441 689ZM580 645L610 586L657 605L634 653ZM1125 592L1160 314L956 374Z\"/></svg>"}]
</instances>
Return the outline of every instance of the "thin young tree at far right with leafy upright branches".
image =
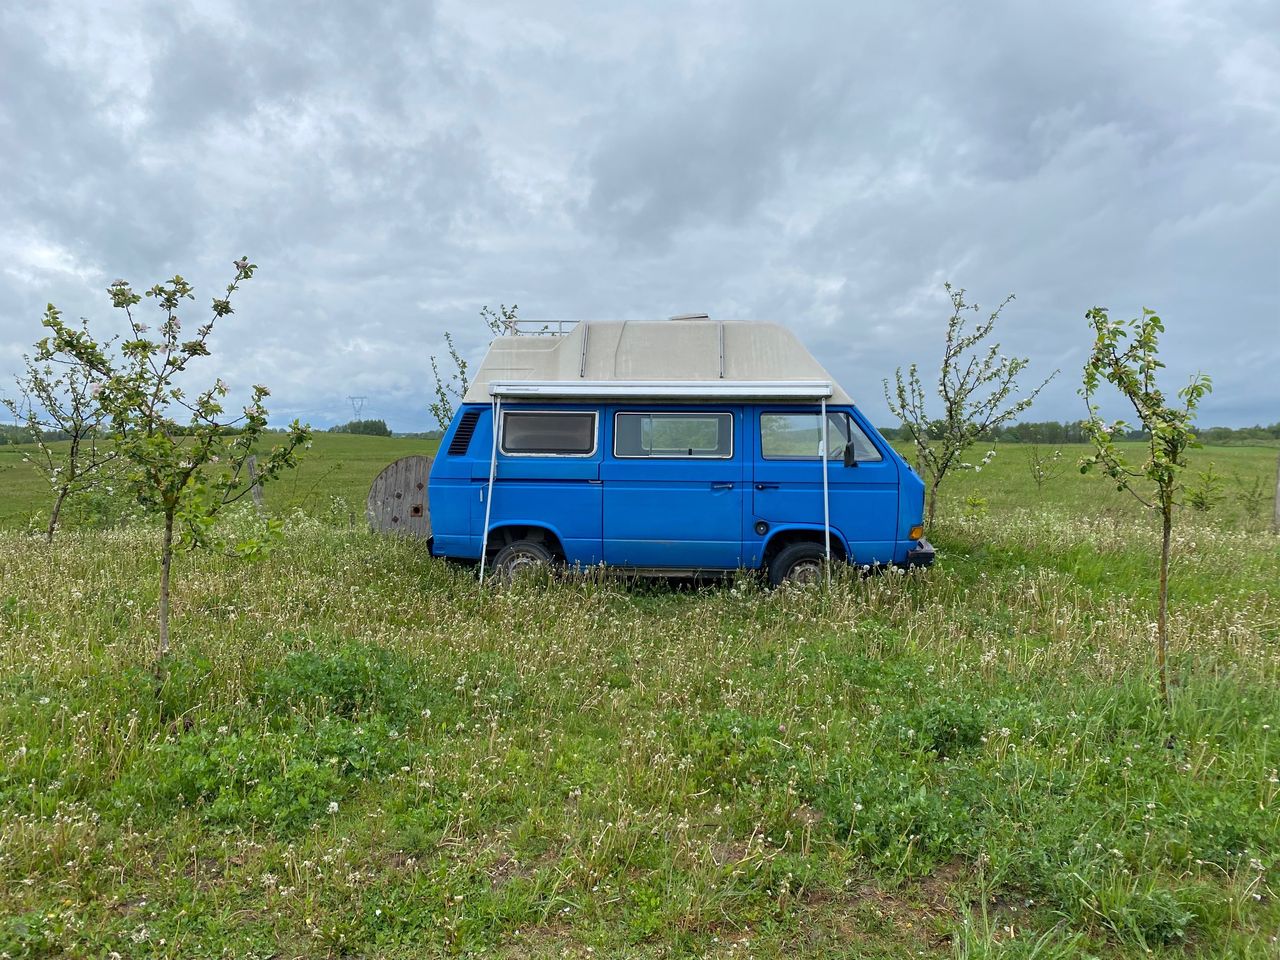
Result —
<instances>
[{"instance_id":1,"label":"thin young tree at far right with leafy upright branches","mask_svg":"<svg viewBox=\"0 0 1280 960\"><path fill-rule=\"evenodd\" d=\"M1178 506L1187 451L1199 444L1192 430L1196 407L1212 389L1208 376L1197 374L1178 392L1180 406L1170 406L1156 383L1165 366L1160 361L1160 334L1165 325L1155 311L1143 307L1142 317L1119 321L1105 307L1093 307L1085 317L1093 328L1093 351L1084 365L1084 397L1089 417L1084 430L1093 453L1080 461L1080 472L1098 467L1117 490L1125 490L1160 517L1160 612L1157 617L1156 668L1160 694L1169 707L1169 553L1172 541L1174 508ZM1098 387L1110 383L1133 406L1147 436L1147 456L1129 460L1115 438L1130 429L1123 420L1105 422L1094 402Z\"/></svg>"}]
</instances>

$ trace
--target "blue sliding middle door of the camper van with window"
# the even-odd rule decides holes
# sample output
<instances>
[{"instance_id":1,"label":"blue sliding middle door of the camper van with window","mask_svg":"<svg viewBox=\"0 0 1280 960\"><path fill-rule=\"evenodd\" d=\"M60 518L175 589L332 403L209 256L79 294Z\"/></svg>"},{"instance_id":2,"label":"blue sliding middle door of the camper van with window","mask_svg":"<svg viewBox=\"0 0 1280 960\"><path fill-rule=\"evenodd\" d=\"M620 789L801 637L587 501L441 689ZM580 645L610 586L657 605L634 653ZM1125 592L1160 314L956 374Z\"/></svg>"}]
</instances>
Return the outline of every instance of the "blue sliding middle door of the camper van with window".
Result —
<instances>
[{"instance_id":1,"label":"blue sliding middle door of the camper van with window","mask_svg":"<svg viewBox=\"0 0 1280 960\"><path fill-rule=\"evenodd\" d=\"M741 410L623 407L611 413L600 465L605 563L741 566Z\"/></svg>"}]
</instances>

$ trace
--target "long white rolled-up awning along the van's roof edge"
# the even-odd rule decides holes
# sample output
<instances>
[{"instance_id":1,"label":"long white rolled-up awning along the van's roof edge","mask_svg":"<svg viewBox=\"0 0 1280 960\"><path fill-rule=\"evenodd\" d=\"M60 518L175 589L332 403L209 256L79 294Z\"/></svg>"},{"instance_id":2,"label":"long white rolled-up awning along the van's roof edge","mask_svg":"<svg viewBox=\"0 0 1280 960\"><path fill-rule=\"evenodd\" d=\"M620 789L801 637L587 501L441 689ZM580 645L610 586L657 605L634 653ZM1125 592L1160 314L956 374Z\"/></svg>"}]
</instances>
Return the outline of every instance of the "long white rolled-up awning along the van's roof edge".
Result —
<instances>
[{"instance_id":1,"label":"long white rolled-up awning along the van's roof edge","mask_svg":"<svg viewBox=\"0 0 1280 960\"><path fill-rule=\"evenodd\" d=\"M489 396L511 399L822 401L829 380L492 380Z\"/></svg>"}]
</instances>

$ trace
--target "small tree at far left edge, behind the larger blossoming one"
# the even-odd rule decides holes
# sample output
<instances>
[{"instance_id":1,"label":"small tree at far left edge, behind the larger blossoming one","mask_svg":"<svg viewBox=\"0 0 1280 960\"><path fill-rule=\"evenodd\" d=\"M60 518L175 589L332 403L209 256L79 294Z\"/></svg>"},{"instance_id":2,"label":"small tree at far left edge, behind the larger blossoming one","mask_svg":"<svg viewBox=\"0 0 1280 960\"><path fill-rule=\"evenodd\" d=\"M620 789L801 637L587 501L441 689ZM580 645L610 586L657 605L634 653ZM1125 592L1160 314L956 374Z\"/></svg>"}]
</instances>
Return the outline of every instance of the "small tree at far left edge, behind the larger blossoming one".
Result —
<instances>
[{"instance_id":1,"label":"small tree at far left edge, behind the larger blossoming one","mask_svg":"<svg viewBox=\"0 0 1280 960\"><path fill-rule=\"evenodd\" d=\"M49 305L45 323L60 323L59 317ZM45 543L52 543L67 499L110 480L118 451L104 442L108 413L99 402L102 385L92 371L70 358L23 360L27 369L15 378L18 396L3 403L36 444L26 460L54 494L45 526Z\"/></svg>"}]
</instances>

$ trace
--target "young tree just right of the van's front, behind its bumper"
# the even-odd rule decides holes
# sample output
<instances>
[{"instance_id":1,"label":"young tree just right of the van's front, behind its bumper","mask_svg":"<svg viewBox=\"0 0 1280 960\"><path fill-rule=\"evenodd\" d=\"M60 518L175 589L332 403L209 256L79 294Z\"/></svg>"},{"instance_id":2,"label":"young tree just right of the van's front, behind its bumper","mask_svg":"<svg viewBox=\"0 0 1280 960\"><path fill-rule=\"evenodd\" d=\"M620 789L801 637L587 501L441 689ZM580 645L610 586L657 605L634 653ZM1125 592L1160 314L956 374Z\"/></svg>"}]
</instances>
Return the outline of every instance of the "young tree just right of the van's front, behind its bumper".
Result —
<instances>
[{"instance_id":1,"label":"young tree just right of the van's front, behind its bumper","mask_svg":"<svg viewBox=\"0 0 1280 960\"><path fill-rule=\"evenodd\" d=\"M1034 390L1021 398L1018 393L1018 375L1030 362L1025 357L1006 357L998 343L983 351L983 342L996 329L1001 311L1014 298L1010 293L1000 306L972 332L965 329L966 314L977 312L977 303L966 303L964 288L945 284L951 300L951 317L947 320L947 339L938 369L938 398L942 401L940 416L928 412L924 387L916 365L908 367L906 376L899 367L895 372L896 389L890 393L884 380L884 402L890 412L902 421L902 428L915 444L916 462L929 488L925 525L933 526L938 488L951 470L982 470L991 461L989 451L979 463L960 460L969 447L992 430L1007 424L1027 410L1041 390L1052 380L1055 370Z\"/></svg>"}]
</instances>

